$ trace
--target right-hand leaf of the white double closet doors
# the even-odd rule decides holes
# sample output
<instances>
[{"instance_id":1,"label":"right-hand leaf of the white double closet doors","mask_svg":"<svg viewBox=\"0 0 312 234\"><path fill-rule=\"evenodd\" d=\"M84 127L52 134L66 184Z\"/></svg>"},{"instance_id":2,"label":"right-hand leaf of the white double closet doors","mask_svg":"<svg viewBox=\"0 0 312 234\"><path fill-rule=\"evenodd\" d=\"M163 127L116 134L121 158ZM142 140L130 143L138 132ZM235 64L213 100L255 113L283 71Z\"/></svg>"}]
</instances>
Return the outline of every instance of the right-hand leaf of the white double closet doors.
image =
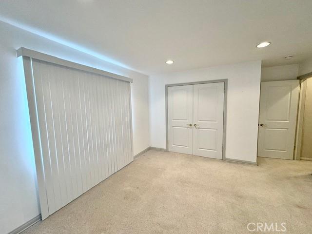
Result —
<instances>
[{"instance_id":1,"label":"right-hand leaf of the white double closet doors","mask_svg":"<svg viewBox=\"0 0 312 234\"><path fill-rule=\"evenodd\" d=\"M224 82L194 85L193 153L222 159Z\"/></svg>"}]
</instances>

